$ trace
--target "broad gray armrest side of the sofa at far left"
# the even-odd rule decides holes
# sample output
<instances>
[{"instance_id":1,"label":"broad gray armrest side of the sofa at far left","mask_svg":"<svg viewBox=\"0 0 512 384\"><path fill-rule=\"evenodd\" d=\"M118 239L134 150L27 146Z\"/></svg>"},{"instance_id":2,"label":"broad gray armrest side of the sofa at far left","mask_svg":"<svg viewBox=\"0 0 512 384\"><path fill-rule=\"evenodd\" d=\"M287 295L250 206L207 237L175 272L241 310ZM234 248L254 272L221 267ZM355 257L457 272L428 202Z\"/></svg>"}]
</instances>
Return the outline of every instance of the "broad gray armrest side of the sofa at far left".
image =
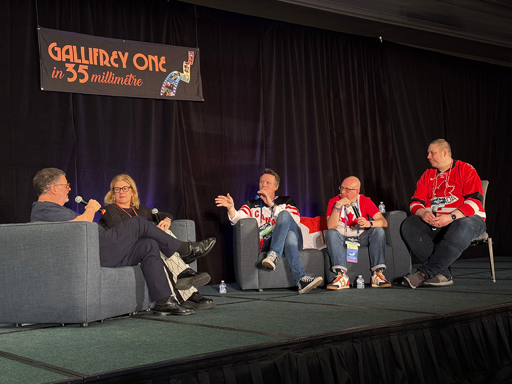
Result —
<instances>
[{"instance_id":1,"label":"broad gray armrest side of the sofa at far left","mask_svg":"<svg viewBox=\"0 0 512 384\"><path fill-rule=\"evenodd\" d=\"M26 323L53 322L56 313L77 323L100 307L98 224L2 224L0 249L0 323L19 322L19 313Z\"/></svg>"}]
</instances>

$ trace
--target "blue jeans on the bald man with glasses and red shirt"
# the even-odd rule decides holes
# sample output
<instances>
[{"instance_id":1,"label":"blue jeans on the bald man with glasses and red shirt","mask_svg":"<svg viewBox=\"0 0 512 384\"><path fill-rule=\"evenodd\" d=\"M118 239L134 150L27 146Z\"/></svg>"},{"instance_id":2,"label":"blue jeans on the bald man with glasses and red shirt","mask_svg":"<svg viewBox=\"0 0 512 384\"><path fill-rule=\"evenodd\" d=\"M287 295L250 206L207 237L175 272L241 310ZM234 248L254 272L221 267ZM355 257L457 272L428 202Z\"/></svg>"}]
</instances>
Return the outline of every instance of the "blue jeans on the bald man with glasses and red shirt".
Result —
<instances>
[{"instance_id":1,"label":"blue jeans on the bald man with glasses and red shirt","mask_svg":"<svg viewBox=\"0 0 512 384\"><path fill-rule=\"evenodd\" d=\"M333 272L336 272L336 269L347 271L345 240L345 236L334 228L327 230L325 234L325 242L331 258ZM384 228L366 228L359 235L359 244L368 247L372 271L386 268L386 233Z\"/></svg>"}]
</instances>

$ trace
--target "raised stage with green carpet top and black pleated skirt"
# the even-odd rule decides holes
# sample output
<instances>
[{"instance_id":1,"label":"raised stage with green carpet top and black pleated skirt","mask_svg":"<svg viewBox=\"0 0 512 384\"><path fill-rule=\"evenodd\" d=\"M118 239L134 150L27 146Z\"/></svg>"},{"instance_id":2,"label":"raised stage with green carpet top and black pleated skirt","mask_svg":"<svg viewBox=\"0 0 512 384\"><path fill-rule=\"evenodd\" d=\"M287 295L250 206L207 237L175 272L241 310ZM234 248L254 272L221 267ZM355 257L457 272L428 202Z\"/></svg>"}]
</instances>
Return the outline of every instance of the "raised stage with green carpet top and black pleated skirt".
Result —
<instances>
[{"instance_id":1,"label":"raised stage with green carpet top and black pleated skirt","mask_svg":"<svg viewBox=\"0 0 512 384\"><path fill-rule=\"evenodd\" d=\"M508 382L512 257L496 258L496 283L488 259L452 273L452 286L414 290L206 286L217 306L189 316L1 324L0 383Z\"/></svg>"}]
</instances>

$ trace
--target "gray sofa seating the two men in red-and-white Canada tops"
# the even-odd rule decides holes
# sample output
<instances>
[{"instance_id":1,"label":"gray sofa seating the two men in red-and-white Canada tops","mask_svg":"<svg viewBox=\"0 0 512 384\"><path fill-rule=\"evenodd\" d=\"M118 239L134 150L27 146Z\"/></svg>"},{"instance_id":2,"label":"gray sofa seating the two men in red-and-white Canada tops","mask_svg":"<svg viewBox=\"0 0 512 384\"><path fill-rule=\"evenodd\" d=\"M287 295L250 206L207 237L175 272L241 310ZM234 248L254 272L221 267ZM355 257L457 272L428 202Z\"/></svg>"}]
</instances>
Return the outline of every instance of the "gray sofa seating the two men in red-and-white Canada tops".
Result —
<instances>
[{"instance_id":1,"label":"gray sofa seating the two men in red-and-white Canada tops","mask_svg":"<svg viewBox=\"0 0 512 384\"><path fill-rule=\"evenodd\" d=\"M386 212L388 221L386 232L386 270L388 281L398 282L404 275L411 273L411 257L400 237L400 224L407 217L404 211ZM279 259L274 271L261 265L266 252L260 253L258 223L252 218L241 219L233 228L234 274L241 289L266 289L294 287L286 257ZM322 276L324 285L334 279L327 249L303 249L299 251L306 274ZM362 275L366 283L370 282L370 258L368 247L359 247L358 262L347 263L350 283L356 282Z\"/></svg>"}]
</instances>

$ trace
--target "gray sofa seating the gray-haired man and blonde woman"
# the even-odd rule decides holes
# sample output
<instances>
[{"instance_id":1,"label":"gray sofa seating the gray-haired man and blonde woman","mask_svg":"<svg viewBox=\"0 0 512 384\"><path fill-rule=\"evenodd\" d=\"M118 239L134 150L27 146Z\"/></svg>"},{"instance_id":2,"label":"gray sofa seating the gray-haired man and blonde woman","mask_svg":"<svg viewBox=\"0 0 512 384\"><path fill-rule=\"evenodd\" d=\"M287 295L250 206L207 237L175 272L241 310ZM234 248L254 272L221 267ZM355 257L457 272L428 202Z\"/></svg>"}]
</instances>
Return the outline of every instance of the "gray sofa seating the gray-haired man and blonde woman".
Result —
<instances>
[{"instance_id":1,"label":"gray sofa seating the gray-haired man and blonde woman","mask_svg":"<svg viewBox=\"0 0 512 384\"><path fill-rule=\"evenodd\" d=\"M196 240L194 221L170 230ZM2 224L0 249L0 323L87 326L151 307L139 265L100 266L96 223Z\"/></svg>"}]
</instances>

